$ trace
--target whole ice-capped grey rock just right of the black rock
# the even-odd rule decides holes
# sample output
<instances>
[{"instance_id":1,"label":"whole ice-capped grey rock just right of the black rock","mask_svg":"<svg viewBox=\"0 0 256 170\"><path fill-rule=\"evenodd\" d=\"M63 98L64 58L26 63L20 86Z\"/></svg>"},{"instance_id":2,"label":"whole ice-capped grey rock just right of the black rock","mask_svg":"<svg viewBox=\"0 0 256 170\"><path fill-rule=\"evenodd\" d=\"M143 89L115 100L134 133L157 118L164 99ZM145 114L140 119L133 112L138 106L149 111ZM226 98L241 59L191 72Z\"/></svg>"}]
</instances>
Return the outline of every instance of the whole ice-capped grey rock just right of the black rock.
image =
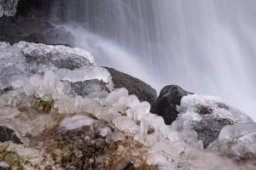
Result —
<instances>
[{"instance_id":1,"label":"whole ice-capped grey rock just right of the black rock","mask_svg":"<svg viewBox=\"0 0 256 170\"><path fill-rule=\"evenodd\" d=\"M184 96L177 111L177 120L172 125L177 129L195 129L205 146L218 138L225 125L253 122L251 117L213 96Z\"/></svg>"}]
</instances>

